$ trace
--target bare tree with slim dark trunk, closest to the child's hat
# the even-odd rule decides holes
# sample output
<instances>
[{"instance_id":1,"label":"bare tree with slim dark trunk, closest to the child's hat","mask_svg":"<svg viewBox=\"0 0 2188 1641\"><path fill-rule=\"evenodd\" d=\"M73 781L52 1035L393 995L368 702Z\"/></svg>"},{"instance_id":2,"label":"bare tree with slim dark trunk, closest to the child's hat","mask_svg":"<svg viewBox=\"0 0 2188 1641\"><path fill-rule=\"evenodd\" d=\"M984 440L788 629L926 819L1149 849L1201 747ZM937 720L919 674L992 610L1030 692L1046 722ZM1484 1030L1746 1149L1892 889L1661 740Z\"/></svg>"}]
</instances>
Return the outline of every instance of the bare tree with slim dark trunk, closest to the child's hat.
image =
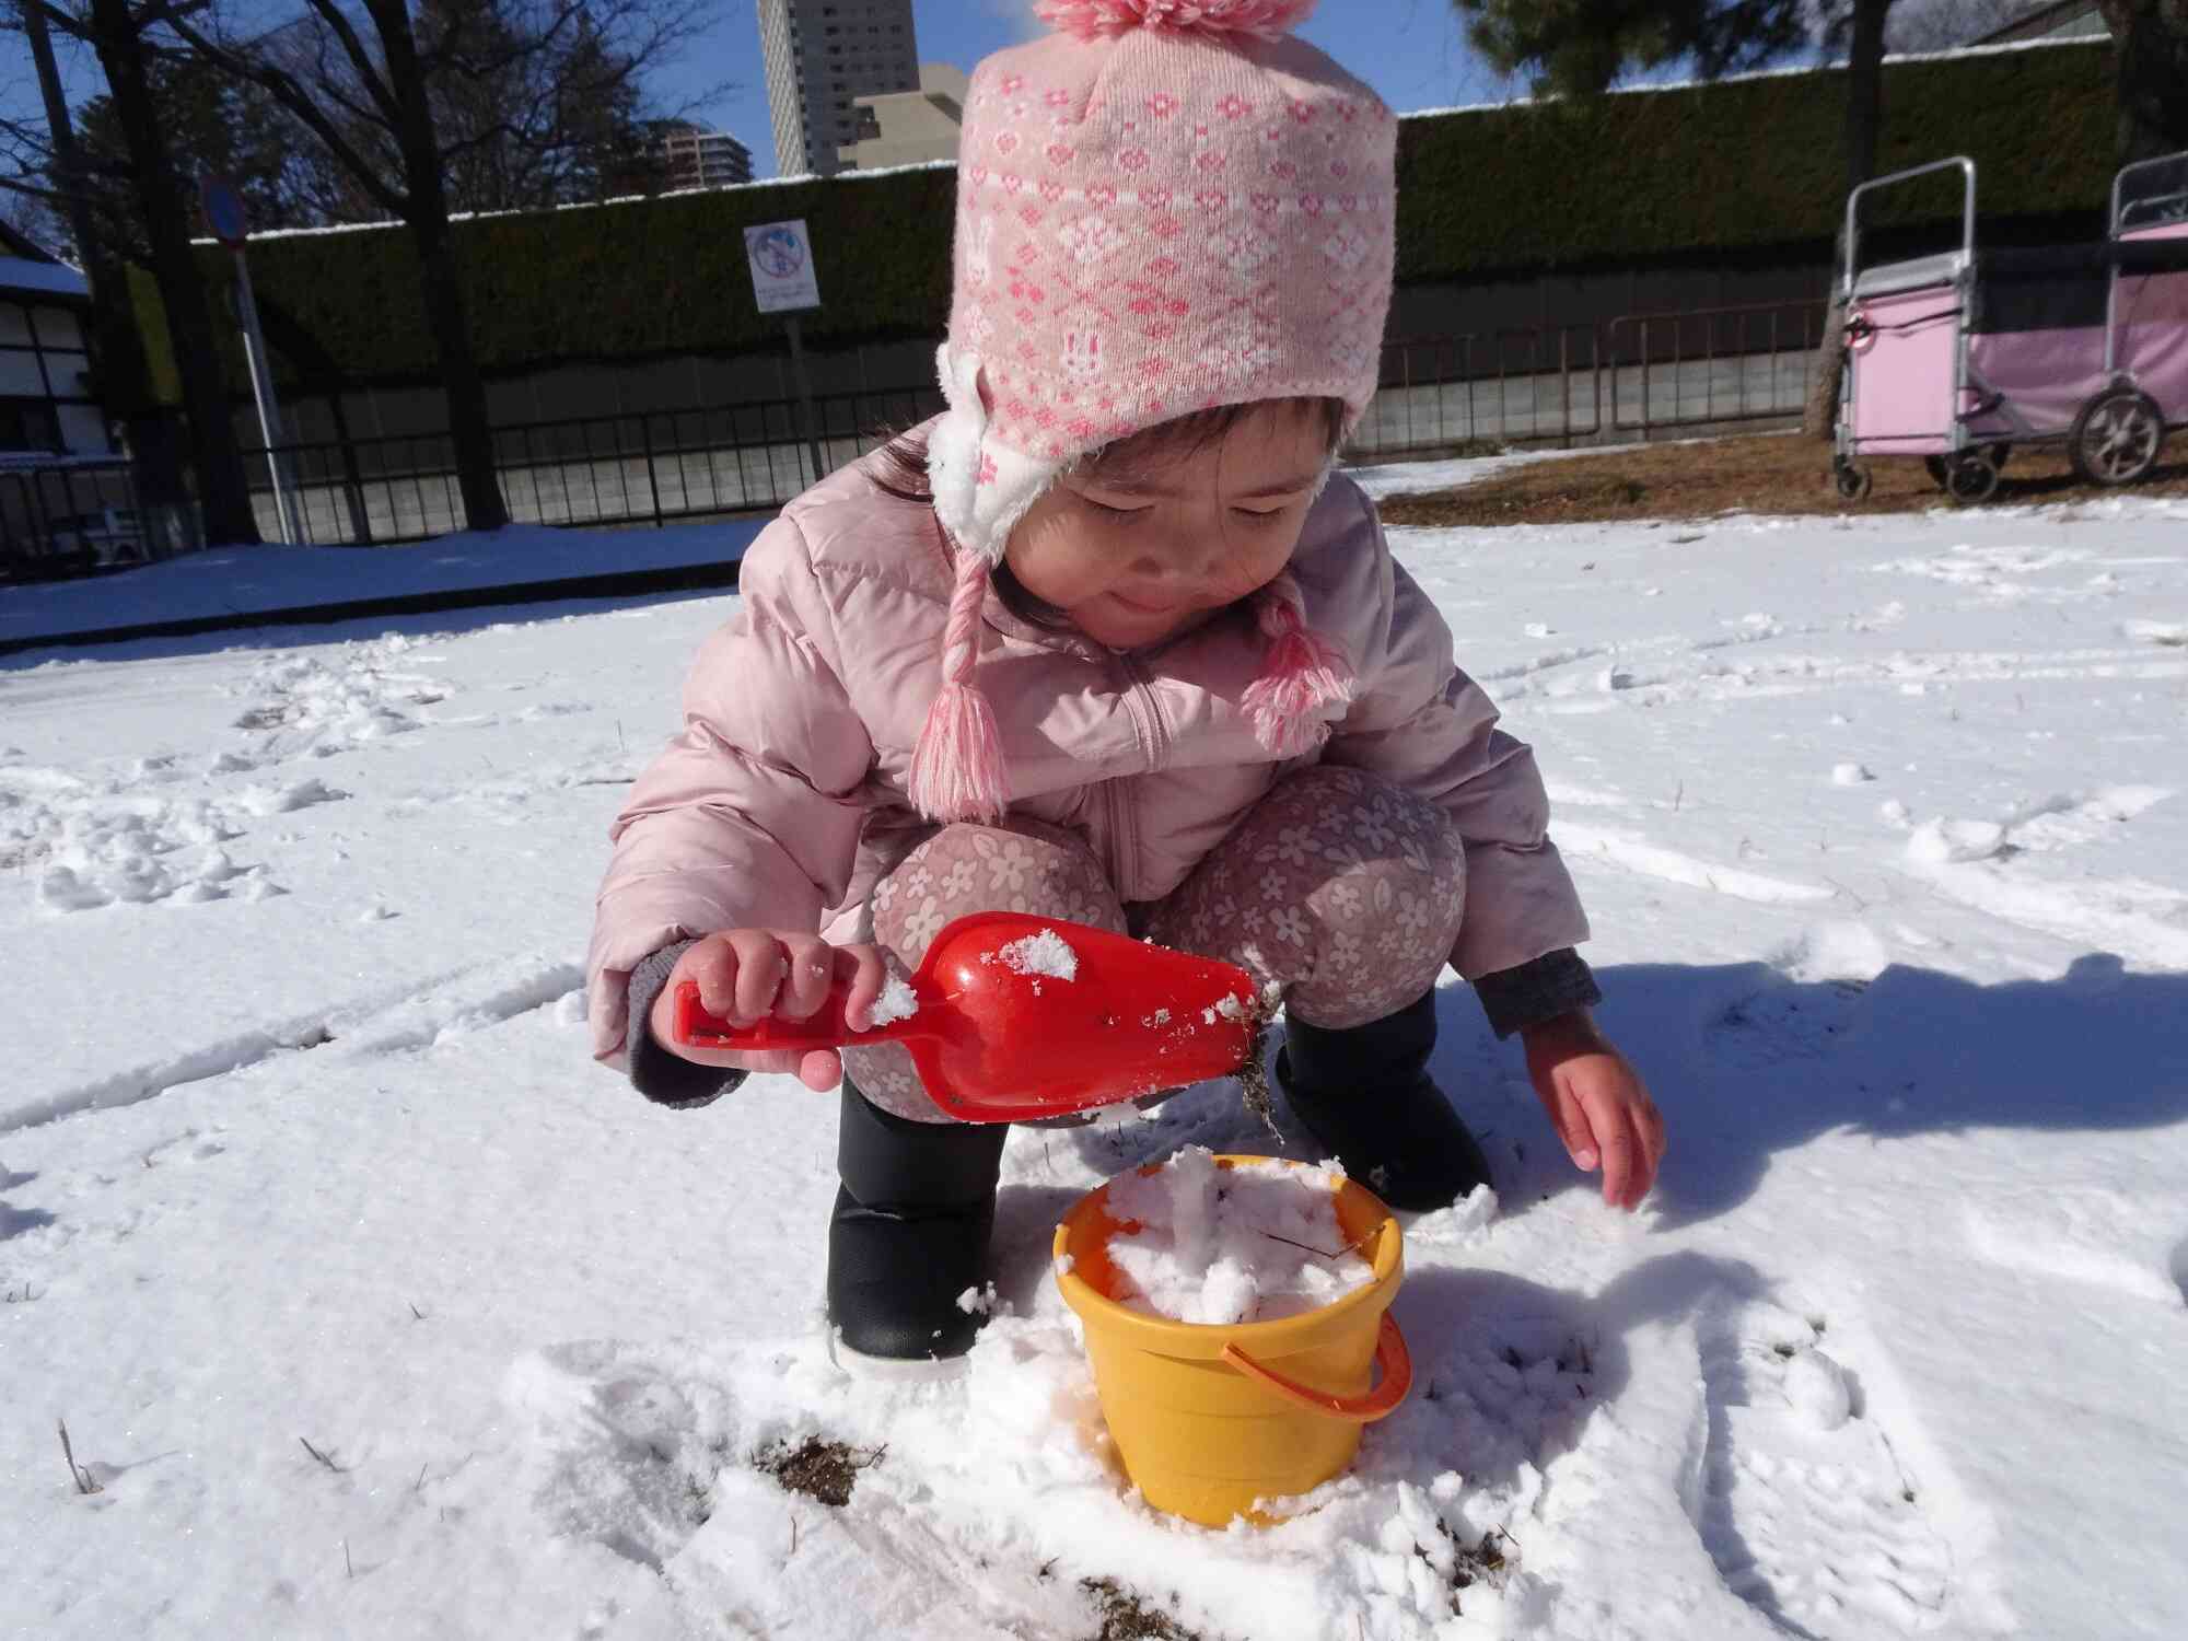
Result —
<instances>
[{"instance_id":1,"label":"bare tree with slim dark trunk, closest to the child's hat","mask_svg":"<svg viewBox=\"0 0 2188 1641\"><path fill-rule=\"evenodd\" d=\"M409 228L464 514L473 529L499 529L508 505L449 232L451 186L497 153L573 149L573 131L617 96L635 96L641 72L694 33L705 0L306 4L298 24L271 35L245 35L221 15L177 15L168 26L203 61L263 88L361 201ZM486 92L462 98L459 88Z\"/></svg>"}]
</instances>

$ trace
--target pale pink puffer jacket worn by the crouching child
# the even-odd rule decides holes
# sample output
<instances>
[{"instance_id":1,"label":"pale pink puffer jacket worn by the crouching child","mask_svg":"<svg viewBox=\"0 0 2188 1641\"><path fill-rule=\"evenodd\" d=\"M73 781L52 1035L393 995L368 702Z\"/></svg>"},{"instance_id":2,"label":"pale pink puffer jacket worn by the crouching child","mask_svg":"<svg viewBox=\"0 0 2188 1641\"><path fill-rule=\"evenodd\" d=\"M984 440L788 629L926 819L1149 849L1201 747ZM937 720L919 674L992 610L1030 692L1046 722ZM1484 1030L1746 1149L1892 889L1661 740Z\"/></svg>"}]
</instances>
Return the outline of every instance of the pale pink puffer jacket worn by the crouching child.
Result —
<instances>
[{"instance_id":1,"label":"pale pink puffer jacket worn by the crouching child","mask_svg":"<svg viewBox=\"0 0 2188 1641\"><path fill-rule=\"evenodd\" d=\"M650 952L726 928L869 939L873 884L932 831L906 777L939 685L952 567L934 514L882 492L873 462L807 490L753 543L744 608L685 683L685 731L610 827L586 961L593 1055L610 1066L624 1063L630 969ZM1262 750L1238 707L1262 654L1247 615L1116 654L989 595L978 678L1002 729L1011 812L1076 831L1127 904L1155 901L1287 770L1348 764L1457 823L1459 974L1584 941L1534 755L1453 665L1448 628L1392 560L1359 486L1330 479L1291 573L1308 624L1359 674L1322 748L1291 761Z\"/></svg>"}]
</instances>

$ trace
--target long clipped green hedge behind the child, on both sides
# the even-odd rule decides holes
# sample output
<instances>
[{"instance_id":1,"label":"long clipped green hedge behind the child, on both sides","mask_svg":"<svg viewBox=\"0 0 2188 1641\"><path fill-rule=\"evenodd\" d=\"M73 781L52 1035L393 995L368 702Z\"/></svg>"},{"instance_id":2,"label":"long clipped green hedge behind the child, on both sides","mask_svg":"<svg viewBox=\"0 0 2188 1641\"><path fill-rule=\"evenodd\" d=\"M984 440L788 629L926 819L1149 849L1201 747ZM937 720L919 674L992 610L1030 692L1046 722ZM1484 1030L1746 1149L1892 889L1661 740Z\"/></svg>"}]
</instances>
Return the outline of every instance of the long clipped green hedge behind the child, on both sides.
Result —
<instances>
[{"instance_id":1,"label":"long clipped green hedge behind the child, on both sides","mask_svg":"<svg viewBox=\"0 0 2188 1641\"><path fill-rule=\"evenodd\" d=\"M2111 179L2111 96L2103 44L1895 63L1882 168L1971 153L1987 219L2094 212ZM1844 72L1827 70L1405 120L1398 280L1812 254L1844 201L1842 98ZM742 230L790 217L810 223L821 263L825 306L805 319L816 346L939 335L952 197L954 173L934 168L457 223L479 363L777 348L781 322L753 309ZM1945 188L1912 206L1956 210ZM203 256L225 282L225 252ZM433 376L400 228L260 241L252 280L282 381ZM144 333L160 381L164 326ZM230 381L247 389L234 348Z\"/></svg>"}]
</instances>

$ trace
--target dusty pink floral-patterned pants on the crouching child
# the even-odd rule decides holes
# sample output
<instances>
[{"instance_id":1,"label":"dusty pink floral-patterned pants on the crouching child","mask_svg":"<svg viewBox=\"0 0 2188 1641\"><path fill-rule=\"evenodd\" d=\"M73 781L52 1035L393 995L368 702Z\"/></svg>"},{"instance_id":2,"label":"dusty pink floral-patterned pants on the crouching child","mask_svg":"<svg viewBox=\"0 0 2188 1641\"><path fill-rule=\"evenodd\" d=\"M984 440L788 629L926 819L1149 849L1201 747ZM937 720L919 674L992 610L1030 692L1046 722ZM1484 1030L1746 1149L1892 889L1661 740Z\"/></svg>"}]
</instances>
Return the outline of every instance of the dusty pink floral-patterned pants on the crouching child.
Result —
<instances>
[{"instance_id":1,"label":"dusty pink floral-patterned pants on the crouching child","mask_svg":"<svg viewBox=\"0 0 2188 1641\"><path fill-rule=\"evenodd\" d=\"M1435 985L1459 936L1466 860L1427 799L1348 768L1269 790L1168 899L1125 908L1101 862L1039 821L952 825L873 893L873 939L910 974L943 923L1033 912L1225 958L1317 1026L1381 1020ZM897 1044L847 1048L845 1072L895 1116L947 1122Z\"/></svg>"}]
</instances>

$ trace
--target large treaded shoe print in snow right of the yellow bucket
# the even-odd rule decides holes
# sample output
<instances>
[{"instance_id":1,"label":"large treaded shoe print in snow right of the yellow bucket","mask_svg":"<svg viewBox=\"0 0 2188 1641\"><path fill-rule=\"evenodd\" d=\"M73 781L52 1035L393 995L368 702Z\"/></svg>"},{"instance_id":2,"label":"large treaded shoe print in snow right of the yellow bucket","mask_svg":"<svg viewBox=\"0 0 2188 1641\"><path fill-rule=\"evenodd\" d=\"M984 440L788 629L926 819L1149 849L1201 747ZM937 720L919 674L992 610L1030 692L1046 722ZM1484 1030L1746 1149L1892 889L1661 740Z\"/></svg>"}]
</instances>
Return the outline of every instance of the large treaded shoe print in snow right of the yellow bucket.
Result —
<instances>
[{"instance_id":1,"label":"large treaded shoe print in snow right of the yellow bucket","mask_svg":"<svg viewBox=\"0 0 2188 1641\"><path fill-rule=\"evenodd\" d=\"M1952 1595L1952 1551L1829 1346L1823 1317L1772 1304L1704 1322L1696 1529L1726 1586L1788 1634L1930 1628Z\"/></svg>"}]
</instances>

